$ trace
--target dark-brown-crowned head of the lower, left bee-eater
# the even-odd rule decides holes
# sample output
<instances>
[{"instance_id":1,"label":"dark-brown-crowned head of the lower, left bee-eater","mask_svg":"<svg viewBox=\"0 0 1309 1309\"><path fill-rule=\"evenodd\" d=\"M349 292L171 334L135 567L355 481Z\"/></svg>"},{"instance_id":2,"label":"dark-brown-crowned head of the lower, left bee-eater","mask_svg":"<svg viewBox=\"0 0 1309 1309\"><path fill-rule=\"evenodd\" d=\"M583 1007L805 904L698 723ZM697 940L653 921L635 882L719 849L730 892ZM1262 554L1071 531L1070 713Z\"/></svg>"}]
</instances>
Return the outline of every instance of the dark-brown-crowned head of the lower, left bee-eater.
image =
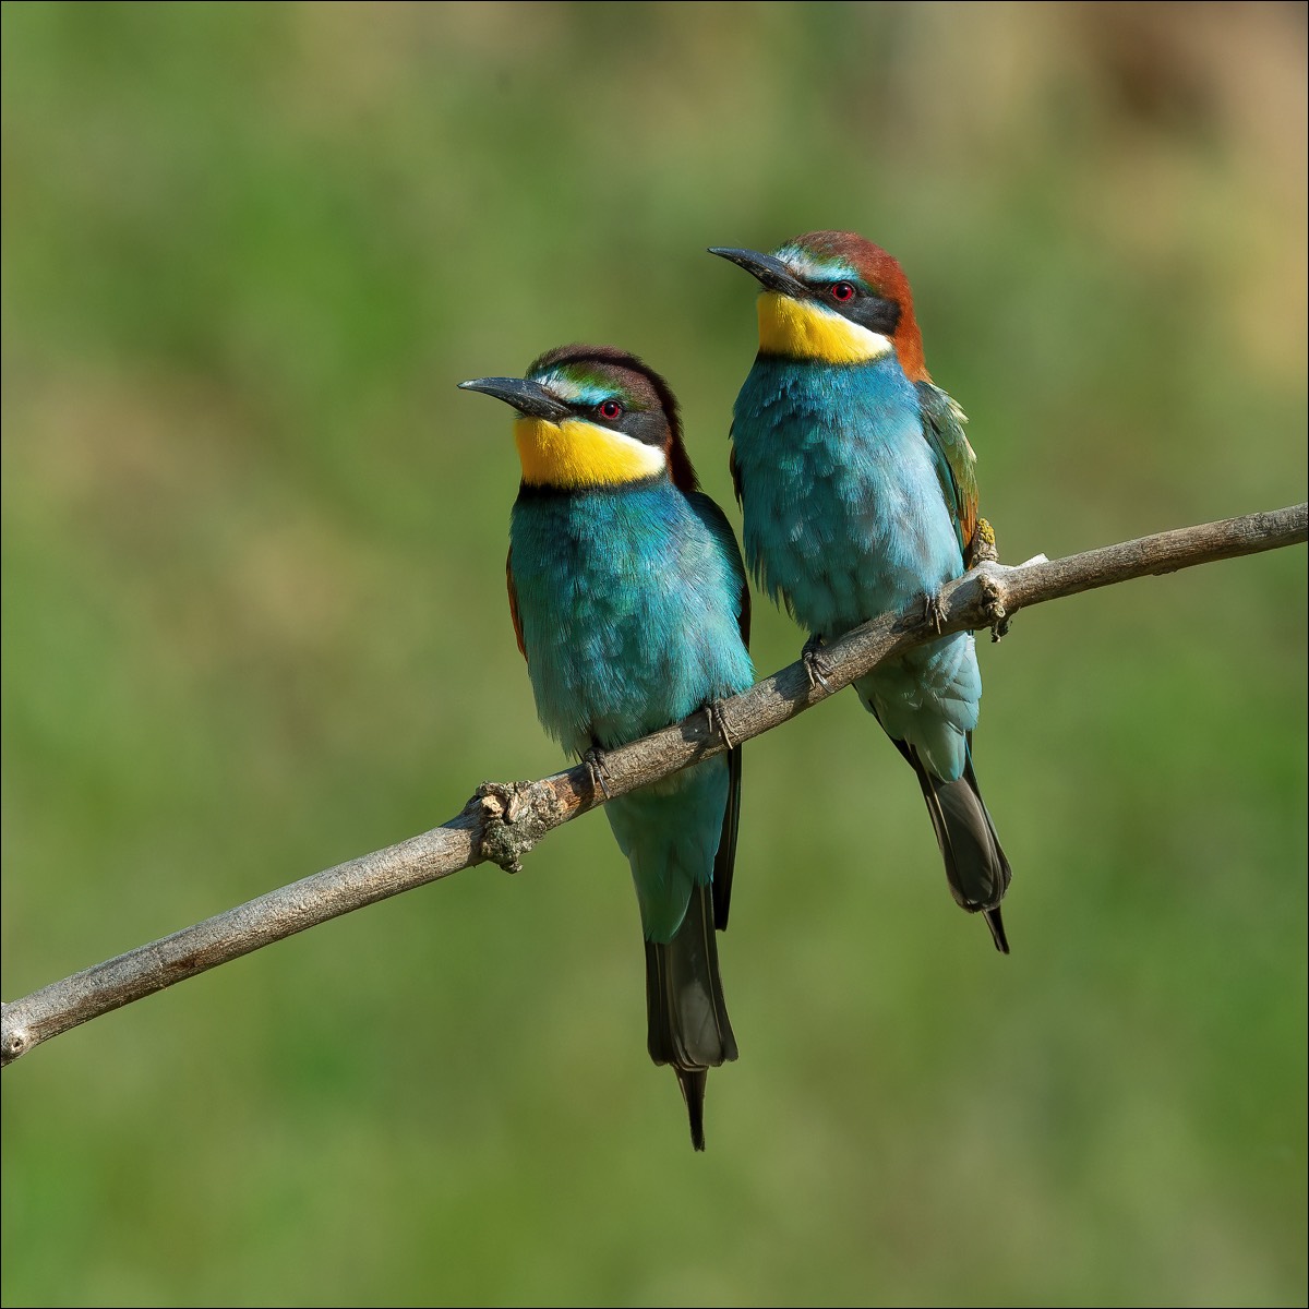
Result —
<instances>
[{"instance_id":1,"label":"dark-brown-crowned head of the lower, left bee-eater","mask_svg":"<svg viewBox=\"0 0 1309 1309\"><path fill-rule=\"evenodd\" d=\"M559 346L526 377L479 377L459 387L518 411L513 435L526 486L576 491L672 478L683 491L696 488L677 398L635 355Z\"/></svg>"}]
</instances>

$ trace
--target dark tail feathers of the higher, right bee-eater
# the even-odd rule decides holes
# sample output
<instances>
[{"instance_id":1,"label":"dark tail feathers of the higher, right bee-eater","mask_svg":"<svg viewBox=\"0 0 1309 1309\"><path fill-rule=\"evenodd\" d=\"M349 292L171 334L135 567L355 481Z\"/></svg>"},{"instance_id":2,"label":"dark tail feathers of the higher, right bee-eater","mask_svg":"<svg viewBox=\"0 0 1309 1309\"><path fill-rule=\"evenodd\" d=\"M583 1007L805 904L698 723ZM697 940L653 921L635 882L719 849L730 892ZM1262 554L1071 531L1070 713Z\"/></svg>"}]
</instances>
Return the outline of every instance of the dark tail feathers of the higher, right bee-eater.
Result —
<instances>
[{"instance_id":1,"label":"dark tail feathers of the higher, right bee-eater","mask_svg":"<svg viewBox=\"0 0 1309 1309\"><path fill-rule=\"evenodd\" d=\"M970 914L986 915L995 948L1001 954L1008 954L1009 942L1000 918L1000 901L1004 899L1013 874L1009 860L1000 848L991 816L982 802L971 757L965 762L963 775L957 781L942 781L928 772L912 746L905 754L923 788L954 902Z\"/></svg>"}]
</instances>

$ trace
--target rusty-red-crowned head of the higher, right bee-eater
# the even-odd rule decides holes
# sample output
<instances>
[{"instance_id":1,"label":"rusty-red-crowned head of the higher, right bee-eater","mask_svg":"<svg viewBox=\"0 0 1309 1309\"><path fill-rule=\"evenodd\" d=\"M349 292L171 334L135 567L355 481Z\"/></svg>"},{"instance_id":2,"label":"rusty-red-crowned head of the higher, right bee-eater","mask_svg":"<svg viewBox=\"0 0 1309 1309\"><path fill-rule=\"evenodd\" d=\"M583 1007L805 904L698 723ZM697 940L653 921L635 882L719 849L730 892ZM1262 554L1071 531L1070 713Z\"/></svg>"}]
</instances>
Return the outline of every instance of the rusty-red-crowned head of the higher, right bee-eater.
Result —
<instances>
[{"instance_id":1,"label":"rusty-red-crowned head of the higher, right bee-eater","mask_svg":"<svg viewBox=\"0 0 1309 1309\"><path fill-rule=\"evenodd\" d=\"M927 381L914 296L899 262L855 232L806 232L772 254L712 249L753 274L759 353L864 364L894 350L911 381Z\"/></svg>"}]
</instances>

